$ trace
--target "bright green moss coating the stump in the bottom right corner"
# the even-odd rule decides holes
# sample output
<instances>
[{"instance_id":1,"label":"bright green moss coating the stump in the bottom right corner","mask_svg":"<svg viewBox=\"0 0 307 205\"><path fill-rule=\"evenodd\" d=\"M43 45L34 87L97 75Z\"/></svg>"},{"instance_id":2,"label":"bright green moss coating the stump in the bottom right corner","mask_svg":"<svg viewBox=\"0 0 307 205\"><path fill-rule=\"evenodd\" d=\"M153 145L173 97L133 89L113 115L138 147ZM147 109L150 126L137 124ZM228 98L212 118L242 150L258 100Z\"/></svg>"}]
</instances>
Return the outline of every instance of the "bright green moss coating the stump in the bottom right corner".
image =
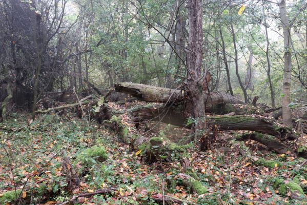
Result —
<instances>
[{"instance_id":1,"label":"bright green moss coating the stump in the bottom right corner","mask_svg":"<svg viewBox=\"0 0 307 205\"><path fill-rule=\"evenodd\" d=\"M274 180L273 187L275 189L278 189L278 193L280 195L286 195L288 192L288 189L290 189L291 192L298 192L299 194L304 194L304 191L302 188L295 183L294 181L286 181L280 178L277 178Z\"/></svg>"}]
</instances>

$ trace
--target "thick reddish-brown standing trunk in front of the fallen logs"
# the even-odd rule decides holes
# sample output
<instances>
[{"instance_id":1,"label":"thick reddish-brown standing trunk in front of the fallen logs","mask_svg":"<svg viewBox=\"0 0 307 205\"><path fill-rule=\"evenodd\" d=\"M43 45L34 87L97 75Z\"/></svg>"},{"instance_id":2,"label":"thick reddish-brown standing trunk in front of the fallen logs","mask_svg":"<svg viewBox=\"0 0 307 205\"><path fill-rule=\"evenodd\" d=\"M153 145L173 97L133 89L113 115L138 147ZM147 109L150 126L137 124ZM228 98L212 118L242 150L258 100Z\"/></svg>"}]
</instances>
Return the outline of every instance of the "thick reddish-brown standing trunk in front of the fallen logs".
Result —
<instances>
[{"instance_id":1,"label":"thick reddish-brown standing trunk in front of the fallen logs","mask_svg":"<svg viewBox=\"0 0 307 205\"><path fill-rule=\"evenodd\" d=\"M192 127L196 139L201 136L205 127L204 101L202 93L202 0L189 0L189 52L187 53L187 66L189 80L189 98L192 105L192 117L196 123ZM205 149L209 149L207 146Z\"/></svg>"}]
</instances>

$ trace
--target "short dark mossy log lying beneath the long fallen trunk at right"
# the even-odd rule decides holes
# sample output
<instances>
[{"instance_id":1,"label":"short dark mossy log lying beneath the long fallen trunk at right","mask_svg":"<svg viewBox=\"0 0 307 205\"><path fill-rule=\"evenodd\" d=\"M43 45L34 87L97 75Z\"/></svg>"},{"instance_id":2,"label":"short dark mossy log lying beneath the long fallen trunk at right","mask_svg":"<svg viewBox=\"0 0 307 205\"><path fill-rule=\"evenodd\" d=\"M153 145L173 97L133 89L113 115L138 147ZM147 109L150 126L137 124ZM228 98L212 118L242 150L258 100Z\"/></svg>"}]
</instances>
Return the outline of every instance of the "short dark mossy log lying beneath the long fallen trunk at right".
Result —
<instances>
[{"instance_id":1,"label":"short dark mossy log lying beneath the long fallen trunk at right","mask_svg":"<svg viewBox=\"0 0 307 205\"><path fill-rule=\"evenodd\" d=\"M242 139L242 140L252 139L258 141L262 145L267 146L269 151L274 151L277 152L278 154L284 154L289 150L285 145L276 140L276 138L274 138L273 136L261 134L259 132L243 134L239 136L237 139Z\"/></svg>"}]
</instances>

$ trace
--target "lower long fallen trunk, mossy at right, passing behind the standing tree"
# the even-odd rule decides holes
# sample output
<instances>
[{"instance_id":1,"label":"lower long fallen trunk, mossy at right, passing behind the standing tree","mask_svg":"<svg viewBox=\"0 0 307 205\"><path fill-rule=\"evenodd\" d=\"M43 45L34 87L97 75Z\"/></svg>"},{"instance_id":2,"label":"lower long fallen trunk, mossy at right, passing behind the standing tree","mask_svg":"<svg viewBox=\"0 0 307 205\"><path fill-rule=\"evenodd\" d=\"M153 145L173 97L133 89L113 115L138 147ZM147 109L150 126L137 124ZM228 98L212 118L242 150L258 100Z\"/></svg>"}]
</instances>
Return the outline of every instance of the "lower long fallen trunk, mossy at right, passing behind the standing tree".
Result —
<instances>
[{"instance_id":1,"label":"lower long fallen trunk, mossy at right, passing behind the standing tree","mask_svg":"<svg viewBox=\"0 0 307 205\"><path fill-rule=\"evenodd\" d=\"M189 116L180 107L148 106L131 110L136 126L145 120L156 120L180 127L189 127ZM281 127L267 118L256 118L248 115L210 116L206 118L208 124L217 125L221 130L249 130L273 135L279 139L296 138L295 134L286 127Z\"/></svg>"}]
</instances>

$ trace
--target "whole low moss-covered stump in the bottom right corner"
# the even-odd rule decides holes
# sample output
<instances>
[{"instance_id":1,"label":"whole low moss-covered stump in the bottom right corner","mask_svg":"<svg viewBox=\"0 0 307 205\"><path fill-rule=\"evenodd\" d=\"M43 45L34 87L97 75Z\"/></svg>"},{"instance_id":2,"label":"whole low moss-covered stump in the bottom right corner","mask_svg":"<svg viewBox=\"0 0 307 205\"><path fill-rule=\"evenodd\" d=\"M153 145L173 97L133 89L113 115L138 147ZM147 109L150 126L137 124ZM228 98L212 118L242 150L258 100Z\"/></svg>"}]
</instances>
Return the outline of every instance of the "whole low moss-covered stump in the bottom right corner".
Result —
<instances>
[{"instance_id":1,"label":"whole low moss-covered stump in the bottom right corner","mask_svg":"<svg viewBox=\"0 0 307 205\"><path fill-rule=\"evenodd\" d=\"M275 178L272 180L274 189L278 190L278 194L287 196L290 192L290 197L293 199L305 198L304 191L298 185L298 183L289 180L283 180L281 178Z\"/></svg>"}]
</instances>

